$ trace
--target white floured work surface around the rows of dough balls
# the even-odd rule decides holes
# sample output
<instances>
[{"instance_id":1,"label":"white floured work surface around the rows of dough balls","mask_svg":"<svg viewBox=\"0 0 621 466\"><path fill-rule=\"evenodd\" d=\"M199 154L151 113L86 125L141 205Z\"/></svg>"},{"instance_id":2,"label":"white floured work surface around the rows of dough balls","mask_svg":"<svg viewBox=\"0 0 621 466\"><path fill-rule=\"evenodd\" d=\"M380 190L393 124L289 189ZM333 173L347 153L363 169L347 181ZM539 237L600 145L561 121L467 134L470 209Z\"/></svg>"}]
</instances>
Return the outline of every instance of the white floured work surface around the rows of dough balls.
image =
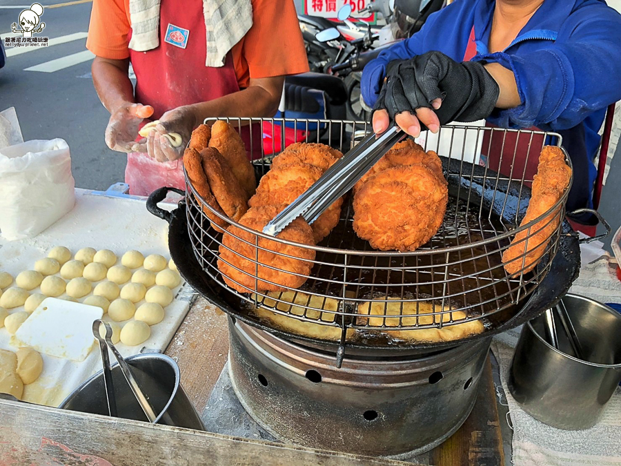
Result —
<instances>
[{"instance_id":1,"label":"white floured work surface around the rows of dough balls","mask_svg":"<svg viewBox=\"0 0 621 466\"><path fill-rule=\"evenodd\" d=\"M162 205L162 204L160 204ZM172 204L164 204L172 210ZM119 257L130 249L148 254L168 252L168 223L146 210L145 201L128 197L92 195L91 191L76 190L75 208L37 237L7 242L0 238L0 270L13 277L32 269L34 262L47 256L54 246L66 246L75 254L83 247L110 249ZM117 262L120 263L120 262ZM12 284L14 286L14 282ZM39 289L29 291L38 293ZM194 297L187 284L172 290L175 300L166 307L166 317L151 327L150 338L136 347L117 345L123 356L146 351L164 351L184 320ZM80 300L81 301L81 300ZM137 307L141 302L137 303ZM23 308L11 309L23 311ZM104 315L103 320L108 320ZM17 351L10 345L10 335L0 329L0 349ZM41 405L58 406L84 380L101 370L99 351L91 351L83 362L43 355L41 377L24 387L23 399Z\"/></svg>"}]
</instances>

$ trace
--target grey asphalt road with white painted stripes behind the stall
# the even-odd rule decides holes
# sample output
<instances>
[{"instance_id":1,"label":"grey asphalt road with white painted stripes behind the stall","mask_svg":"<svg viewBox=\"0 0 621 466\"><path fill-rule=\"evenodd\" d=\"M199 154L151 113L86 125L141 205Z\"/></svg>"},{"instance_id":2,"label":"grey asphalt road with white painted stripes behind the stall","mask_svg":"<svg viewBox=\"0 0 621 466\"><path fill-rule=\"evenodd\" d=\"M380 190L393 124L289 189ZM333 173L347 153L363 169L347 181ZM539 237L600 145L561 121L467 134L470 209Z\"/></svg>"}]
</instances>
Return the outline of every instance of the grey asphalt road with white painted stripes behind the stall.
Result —
<instances>
[{"instance_id":1,"label":"grey asphalt road with white painted stripes behind the stall","mask_svg":"<svg viewBox=\"0 0 621 466\"><path fill-rule=\"evenodd\" d=\"M615 1L621 8L621 0ZM19 12L28 8L23 7L25 3L1 2L2 39L10 32L11 23L17 22ZM66 139L77 186L103 189L124 179L126 160L124 154L110 151L103 142L109 115L92 87L92 55L85 51L90 7L90 1L78 0L46 8L42 17L46 28L40 36L61 43L19 55L8 50L7 64L0 70L0 110L17 108L25 139ZM621 224L619 179L621 145L600 206L614 230Z\"/></svg>"}]
</instances>

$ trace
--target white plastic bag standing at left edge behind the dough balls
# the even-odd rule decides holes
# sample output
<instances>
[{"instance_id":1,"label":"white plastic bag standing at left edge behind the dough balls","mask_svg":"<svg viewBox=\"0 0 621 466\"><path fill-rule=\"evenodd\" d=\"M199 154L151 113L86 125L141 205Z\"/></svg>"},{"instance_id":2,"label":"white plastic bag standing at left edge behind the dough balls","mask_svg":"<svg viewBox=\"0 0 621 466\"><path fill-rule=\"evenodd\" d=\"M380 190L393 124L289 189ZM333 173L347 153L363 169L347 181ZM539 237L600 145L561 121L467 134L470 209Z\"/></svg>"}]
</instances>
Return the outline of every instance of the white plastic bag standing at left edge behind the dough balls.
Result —
<instances>
[{"instance_id":1,"label":"white plastic bag standing at left edge behind the dough balls","mask_svg":"<svg viewBox=\"0 0 621 466\"><path fill-rule=\"evenodd\" d=\"M38 235L74 204L75 180L64 139L0 149L0 231L6 240Z\"/></svg>"}]
</instances>

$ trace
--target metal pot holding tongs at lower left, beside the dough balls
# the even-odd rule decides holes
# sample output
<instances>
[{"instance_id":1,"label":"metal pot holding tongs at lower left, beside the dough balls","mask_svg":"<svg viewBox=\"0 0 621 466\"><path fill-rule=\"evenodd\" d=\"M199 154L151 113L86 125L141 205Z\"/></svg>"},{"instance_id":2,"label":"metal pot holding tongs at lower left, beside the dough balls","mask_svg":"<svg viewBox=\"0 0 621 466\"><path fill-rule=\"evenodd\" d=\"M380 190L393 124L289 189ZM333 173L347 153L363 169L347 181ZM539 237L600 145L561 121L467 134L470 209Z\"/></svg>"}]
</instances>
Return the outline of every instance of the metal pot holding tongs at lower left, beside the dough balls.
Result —
<instances>
[{"instance_id":1,"label":"metal pot holding tongs at lower left, beside the dough balls","mask_svg":"<svg viewBox=\"0 0 621 466\"><path fill-rule=\"evenodd\" d=\"M205 429L194 405L181 387L179 366L172 358L159 353L145 353L130 356L126 362L157 413L155 423ZM148 422L118 364L112 366L112 382L119 418ZM72 391L59 407L108 416L102 371Z\"/></svg>"}]
</instances>

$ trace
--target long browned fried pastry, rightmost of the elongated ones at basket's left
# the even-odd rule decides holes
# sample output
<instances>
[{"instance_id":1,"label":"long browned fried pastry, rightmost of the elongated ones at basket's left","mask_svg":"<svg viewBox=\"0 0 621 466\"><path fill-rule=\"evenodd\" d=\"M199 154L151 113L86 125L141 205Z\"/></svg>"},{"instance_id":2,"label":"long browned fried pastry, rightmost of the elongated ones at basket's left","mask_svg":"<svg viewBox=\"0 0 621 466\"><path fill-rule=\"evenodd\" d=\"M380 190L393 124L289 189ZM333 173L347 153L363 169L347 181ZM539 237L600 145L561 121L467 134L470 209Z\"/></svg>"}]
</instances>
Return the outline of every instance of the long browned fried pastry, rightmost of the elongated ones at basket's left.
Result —
<instances>
[{"instance_id":1,"label":"long browned fried pastry, rightmost of the elongated ones at basket's left","mask_svg":"<svg viewBox=\"0 0 621 466\"><path fill-rule=\"evenodd\" d=\"M230 124L218 120L211 126L211 139L209 147L215 147L226 159L233 174L242 185L248 197L255 193L257 178L253 164L248 160L244 141L239 133Z\"/></svg>"}]
</instances>

